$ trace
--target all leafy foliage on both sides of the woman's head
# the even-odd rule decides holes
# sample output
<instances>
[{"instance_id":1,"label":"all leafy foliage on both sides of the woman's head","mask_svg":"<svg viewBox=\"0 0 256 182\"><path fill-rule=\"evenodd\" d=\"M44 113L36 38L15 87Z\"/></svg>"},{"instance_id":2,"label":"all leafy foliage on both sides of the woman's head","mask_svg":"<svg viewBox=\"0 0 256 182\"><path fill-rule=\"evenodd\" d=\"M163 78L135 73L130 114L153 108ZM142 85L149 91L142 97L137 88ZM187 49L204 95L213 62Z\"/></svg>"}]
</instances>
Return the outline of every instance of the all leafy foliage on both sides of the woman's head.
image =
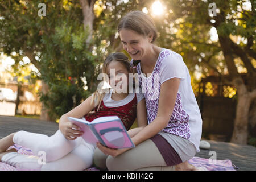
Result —
<instances>
[{"instance_id":1,"label":"all leafy foliage on both sides of the woman's head","mask_svg":"<svg viewBox=\"0 0 256 182\"><path fill-rule=\"evenodd\" d=\"M96 18L93 38L84 30L83 15L79 1L48 0L46 17L38 16L41 1L0 0L0 51L13 56L18 67L21 57L32 55L31 63L40 74L34 74L49 87L40 93L53 118L80 104L96 89L100 64L106 55L122 51L117 34L117 23L131 10L146 7L151 14L154 0L127 3L119 0L99 0L94 6ZM218 35L241 36L252 39L249 47L255 52L255 2L250 1L251 11L243 8L245 1L161 1L166 9L163 15L154 16L160 47L172 49L183 56L189 71L197 67L203 75L224 74L226 68L218 41L210 40L210 29L215 27ZM216 3L216 17L208 14L209 3ZM215 20L215 23L213 23ZM241 48L247 44L240 42ZM88 90L84 90L86 78Z\"/></svg>"}]
</instances>

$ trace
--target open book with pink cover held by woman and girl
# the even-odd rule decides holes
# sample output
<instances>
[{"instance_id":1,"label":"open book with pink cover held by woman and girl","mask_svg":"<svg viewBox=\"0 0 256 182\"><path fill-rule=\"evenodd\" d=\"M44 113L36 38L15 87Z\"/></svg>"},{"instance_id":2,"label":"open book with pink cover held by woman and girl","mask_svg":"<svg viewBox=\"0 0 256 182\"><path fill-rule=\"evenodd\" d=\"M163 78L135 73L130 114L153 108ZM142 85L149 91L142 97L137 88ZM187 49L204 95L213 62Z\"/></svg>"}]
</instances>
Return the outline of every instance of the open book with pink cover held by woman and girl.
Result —
<instances>
[{"instance_id":1,"label":"open book with pink cover held by woman and girl","mask_svg":"<svg viewBox=\"0 0 256 182\"><path fill-rule=\"evenodd\" d=\"M90 144L96 145L96 142L100 142L109 148L135 147L121 119L117 116L100 117L92 122L86 121L85 118L68 117L68 119L84 131L82 138Z\"/></svg>"}]
</instances>

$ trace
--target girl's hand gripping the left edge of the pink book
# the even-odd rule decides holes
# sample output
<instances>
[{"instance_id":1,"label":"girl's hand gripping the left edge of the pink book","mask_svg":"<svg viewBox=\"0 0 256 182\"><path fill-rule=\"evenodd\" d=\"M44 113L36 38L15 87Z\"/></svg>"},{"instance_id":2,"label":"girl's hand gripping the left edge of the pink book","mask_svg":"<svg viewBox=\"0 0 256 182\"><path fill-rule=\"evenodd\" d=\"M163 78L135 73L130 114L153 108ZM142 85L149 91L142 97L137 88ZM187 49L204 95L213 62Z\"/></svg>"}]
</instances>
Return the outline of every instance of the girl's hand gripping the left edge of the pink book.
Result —
<instances>
[{"instance_id":1,"label":"girl's hand gripping the left edge of the pink book","mask_svg":"<svg viewBox=\"0 0 256 182\"><path fill-rule=\"evenodd\" d=\"M64 137L68 140L75 140L77 137L84 134L77 125L74 125L70 121L59 122L59 128Z\"/></svg>"}]
</instances>

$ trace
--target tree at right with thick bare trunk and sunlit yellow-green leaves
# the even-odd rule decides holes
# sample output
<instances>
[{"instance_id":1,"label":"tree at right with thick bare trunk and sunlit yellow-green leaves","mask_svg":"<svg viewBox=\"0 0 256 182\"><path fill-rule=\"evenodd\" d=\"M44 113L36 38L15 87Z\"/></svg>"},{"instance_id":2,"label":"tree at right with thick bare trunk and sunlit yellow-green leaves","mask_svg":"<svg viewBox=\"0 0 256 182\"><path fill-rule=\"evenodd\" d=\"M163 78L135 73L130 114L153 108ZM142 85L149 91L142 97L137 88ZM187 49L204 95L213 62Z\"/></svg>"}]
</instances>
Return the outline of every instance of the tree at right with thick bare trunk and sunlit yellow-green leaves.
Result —
<instances>
[{"instance_id":1,"label":"tree at right with thick bare trunk and sunlit yellow-green leaves","mask_svg":"<svg viewBox=\"0 0 256 182\"><path fill-rule=\"evenodd\" d=\"M250 104L256 98L256 70L252 60L255 54L255 2L254 1L165 1L170 8L162 28L177 30L162 36L162 45L171 39L171 48L183 55L189 68L195 64L207 67L222 76L228 69L231 84L237 89L237 109L232 142L246 144ZM251 5L251 9L245 7ZM214 7L216 7L214 9ZM167 8L167 10L168 10ZM212 12L209 12L211 11ZM213 12L215 11L215 12ZM213 13L216 13L214 16ZM218 41L210 40L210 29L216 28ZM166 34L163 30L163 34ZM233 38L244 41L234 42ZM170 42L168 43L170 44ZM220 58L223 57L221 60ZM250 82L245 84L238 73L235 60L240 59L247 69ZM224 69L218 63L224 63Z\"/></svg>"}]
</instances>

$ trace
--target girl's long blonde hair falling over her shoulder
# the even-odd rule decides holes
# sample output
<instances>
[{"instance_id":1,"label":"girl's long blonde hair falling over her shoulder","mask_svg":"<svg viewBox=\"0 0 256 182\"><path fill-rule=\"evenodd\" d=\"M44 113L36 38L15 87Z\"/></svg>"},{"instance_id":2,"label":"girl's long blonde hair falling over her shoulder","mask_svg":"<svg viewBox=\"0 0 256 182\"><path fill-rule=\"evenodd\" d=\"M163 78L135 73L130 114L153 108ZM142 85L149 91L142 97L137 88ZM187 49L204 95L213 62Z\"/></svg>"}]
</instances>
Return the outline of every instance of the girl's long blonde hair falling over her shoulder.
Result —
<instances>
[{"instance_id":1,"label":"girl's long blonde hair falling over her shoulder","mask_svg":"<svg viewBox=\"0 0 256 182\"><path fill-rule=\"evenodd\" d=\"M117 61L121 63L127 69L127 71L130 72L130 62L128 57L122 52L115 52L108 55L108 57L106 57L103 63L102 73L105 73L105 76L108 70L109 63L111 63L112 61ZM104 82L107 82L107 81L108 81L108 78L104 77ZM107 89L109 90L109 88ZM94 101L95 107L98 105L97 110L99 109L101 101L105 96L105 91L106 91L105 88L100 88L100 90L97 89L92 95L92 102Z\"/></svg>"}]
</instances>

